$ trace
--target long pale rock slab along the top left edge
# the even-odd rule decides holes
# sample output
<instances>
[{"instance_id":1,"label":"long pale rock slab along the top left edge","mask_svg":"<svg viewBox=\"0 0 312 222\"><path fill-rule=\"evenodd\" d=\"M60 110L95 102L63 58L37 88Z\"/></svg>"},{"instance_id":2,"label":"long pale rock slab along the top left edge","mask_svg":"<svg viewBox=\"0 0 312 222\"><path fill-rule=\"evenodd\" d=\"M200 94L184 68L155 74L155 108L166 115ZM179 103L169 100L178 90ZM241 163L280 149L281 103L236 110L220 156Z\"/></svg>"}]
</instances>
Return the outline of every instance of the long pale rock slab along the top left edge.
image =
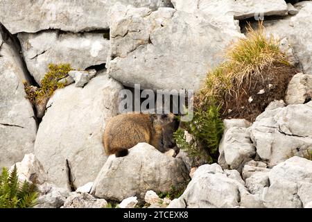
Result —
<instances>
[{"instance_id":1,"label":"long pale rock slab along the top left edge","mask_svg":"<svg viewBox=\"0 0 312 222\"><path fill-rule=\"evenodd\" d=\"M103 30L109 28L109 11L118 1L135 7L149 7L152 10L172 6L170 0L11 0L1 1L0 23L12 34L36 33L47 29L74 33Z\"/></svg>"}]
</instances>

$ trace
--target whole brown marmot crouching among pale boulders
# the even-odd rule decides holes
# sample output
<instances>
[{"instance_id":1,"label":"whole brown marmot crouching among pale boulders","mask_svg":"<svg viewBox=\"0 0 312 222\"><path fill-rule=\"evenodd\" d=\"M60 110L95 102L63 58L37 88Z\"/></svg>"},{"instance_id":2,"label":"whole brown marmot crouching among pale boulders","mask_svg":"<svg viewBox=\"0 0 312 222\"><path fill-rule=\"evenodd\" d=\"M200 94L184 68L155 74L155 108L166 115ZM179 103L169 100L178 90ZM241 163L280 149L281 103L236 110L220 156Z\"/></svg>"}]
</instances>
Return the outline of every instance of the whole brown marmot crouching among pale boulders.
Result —
<instances>
[{"instance_id":1,"label":"whole brown marmot crouching among pale boulders","mask_svg":"<svg viewBox=\"0 0 312 222\"><path fill-rule=\"evenodd\" d=\"M173 132L178 121L174 114L119 114L105 127L103 145L107 155L128 155L128 149L146 142L164 153L173 148Z\"/></svg>"}]
</instances>

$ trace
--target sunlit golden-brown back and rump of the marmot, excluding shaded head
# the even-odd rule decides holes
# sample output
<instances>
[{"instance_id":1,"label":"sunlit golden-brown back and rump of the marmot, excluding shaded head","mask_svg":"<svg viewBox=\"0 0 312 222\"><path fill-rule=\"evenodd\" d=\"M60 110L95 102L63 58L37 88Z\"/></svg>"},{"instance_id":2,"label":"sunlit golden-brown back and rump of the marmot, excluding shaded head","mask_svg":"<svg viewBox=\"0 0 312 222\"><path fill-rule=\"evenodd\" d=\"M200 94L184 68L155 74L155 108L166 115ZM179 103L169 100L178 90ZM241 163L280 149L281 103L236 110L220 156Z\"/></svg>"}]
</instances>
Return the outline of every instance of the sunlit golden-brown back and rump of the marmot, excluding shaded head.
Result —
<instances>
[{"instance_id":1,"label":"sunlit golden-brown back and rump of the marmot, excluding shaded head","mask_svg":"<svg viewBox=\"0 0 312 222\"><path fill-rule=\"evenodd\" d=\"M119 114L105 127L103 144L107 155L128 154L128 149L140 142L150 143L153 121L150 114Z\"/></svg>"}]
</instances>

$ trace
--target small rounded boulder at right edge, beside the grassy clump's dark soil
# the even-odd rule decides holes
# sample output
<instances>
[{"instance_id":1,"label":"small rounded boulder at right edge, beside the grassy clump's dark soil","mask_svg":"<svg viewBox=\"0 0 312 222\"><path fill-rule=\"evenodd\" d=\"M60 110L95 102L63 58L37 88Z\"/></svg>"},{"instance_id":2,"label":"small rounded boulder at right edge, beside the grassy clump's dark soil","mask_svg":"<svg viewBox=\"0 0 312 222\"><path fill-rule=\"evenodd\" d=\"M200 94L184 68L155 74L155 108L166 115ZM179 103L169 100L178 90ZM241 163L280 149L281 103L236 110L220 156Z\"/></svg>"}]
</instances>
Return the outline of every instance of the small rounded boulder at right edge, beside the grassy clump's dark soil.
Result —
<instances>
[{"instance_id":1,"label":"small rounded boulder at right edge, beside the grassy clump's dark soil","mask_svg":"<svg viewBox=\"0 0 312 222\"><path fill-rule=\"evenodd\" d=\"M312 75L296 74L288 85L285 101L288 104L303 104L312 99Z\"/></svg>"}]
</instances>

